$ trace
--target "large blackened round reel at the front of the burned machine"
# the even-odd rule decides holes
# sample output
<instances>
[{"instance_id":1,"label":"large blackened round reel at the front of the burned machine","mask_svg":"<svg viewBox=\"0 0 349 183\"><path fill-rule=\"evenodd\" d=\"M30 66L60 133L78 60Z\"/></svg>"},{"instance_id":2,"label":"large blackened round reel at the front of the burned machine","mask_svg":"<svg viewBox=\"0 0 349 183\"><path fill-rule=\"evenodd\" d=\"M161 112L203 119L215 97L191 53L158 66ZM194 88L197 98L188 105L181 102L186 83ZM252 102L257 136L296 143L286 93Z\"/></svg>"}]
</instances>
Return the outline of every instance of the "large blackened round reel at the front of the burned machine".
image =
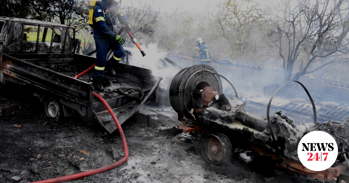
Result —
<instances>
[{"instance_id":1,"label":"large blackened round reel at the front of the burned machine","mask_svg":"<svg viewBox=\"0 0 349 183\"><path fill-rule=\"evenodd\" d=\"M173 77L170 85L170 103L178 113L178 120L185 117L196 121L198 114L194 109L202 108L201 90L205 87L210 86L214 91L222 93L220 77L204 75L206 73L217 74L217 71L211 66L201 64L184 68Z\"/></svg>"}]
</instances>

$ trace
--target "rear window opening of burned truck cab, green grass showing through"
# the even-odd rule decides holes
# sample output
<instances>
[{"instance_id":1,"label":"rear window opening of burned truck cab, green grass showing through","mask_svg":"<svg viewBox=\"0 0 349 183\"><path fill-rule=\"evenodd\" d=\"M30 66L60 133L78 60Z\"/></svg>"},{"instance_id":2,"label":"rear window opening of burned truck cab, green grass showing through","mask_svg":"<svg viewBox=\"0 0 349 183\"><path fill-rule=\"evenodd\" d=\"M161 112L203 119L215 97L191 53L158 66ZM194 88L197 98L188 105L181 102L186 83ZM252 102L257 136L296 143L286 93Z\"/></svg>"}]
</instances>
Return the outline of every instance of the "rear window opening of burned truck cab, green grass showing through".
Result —
<instances>
[{"instance_id":1,"label":"rear window opening of burned truck cab, green grass showing through","mask_svg":"<svg viewBox=\"0 0 349 183\"><path fill-rule=\"evenodd\" d=\"M22 25L23 52L60 52L62 50L62 29L47 25Z\"/></svg>"}]
</instances>

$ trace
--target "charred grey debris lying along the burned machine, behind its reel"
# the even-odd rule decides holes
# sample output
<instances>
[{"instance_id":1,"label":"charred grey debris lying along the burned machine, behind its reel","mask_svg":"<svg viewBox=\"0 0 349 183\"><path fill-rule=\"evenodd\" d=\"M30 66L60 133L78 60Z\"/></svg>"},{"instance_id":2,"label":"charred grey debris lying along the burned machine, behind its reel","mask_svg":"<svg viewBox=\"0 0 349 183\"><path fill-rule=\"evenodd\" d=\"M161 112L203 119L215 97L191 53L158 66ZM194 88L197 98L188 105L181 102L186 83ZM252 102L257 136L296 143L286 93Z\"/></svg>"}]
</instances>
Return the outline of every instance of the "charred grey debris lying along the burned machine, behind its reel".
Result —
<instances>
[{"instance_id":1,"label":"charred grey debris lying along the burned machine, behind its reel","mask_svg":"<svg viewBox=\"0 0 349 183\"><path fill-rule=\"evenodd\" d=\"M267 128L267 121L244 112L245 105L246 103L243 104L238 99L228 99L220 95L217 100L210 102L205 110L202 110L200 121L210 124L213 128L224 126L229 129L225 131L244 134L241 140L249 145L277 152ZM290 117L282 114L281 110L271 115L270 119L282 155L288 158L297 156L300 139L312 131L315 125L313 123L296 125Z\"/></svg>"}]
</instances>

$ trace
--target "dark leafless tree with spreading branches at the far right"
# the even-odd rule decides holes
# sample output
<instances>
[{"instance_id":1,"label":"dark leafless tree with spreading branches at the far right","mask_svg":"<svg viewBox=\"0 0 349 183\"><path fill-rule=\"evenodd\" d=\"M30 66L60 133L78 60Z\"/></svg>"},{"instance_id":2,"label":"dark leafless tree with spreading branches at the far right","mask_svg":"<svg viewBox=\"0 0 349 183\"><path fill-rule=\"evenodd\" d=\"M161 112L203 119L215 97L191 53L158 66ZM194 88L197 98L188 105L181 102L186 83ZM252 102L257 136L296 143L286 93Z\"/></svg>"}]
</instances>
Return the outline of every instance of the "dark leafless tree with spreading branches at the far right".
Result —
<instances>
[{"instance_id":1,"label":"dark leafless tree with spreading branches at the far right","mask_svg":"<svg viewBox=\"0 0 349 183\"><path fill-rule=\"evenodd\" d=\"M348 0L282 1L285 5L271 20L275 25L275 46L283 61L284 81L299 80L332 63L346 62L349 32ZM316 62L326 62L313 68ZM329 59L330 58L330 59ZM303 68L292 75L296 62ZM318 65L318 64L317 64Z\"/></svg>"}]
</instances>

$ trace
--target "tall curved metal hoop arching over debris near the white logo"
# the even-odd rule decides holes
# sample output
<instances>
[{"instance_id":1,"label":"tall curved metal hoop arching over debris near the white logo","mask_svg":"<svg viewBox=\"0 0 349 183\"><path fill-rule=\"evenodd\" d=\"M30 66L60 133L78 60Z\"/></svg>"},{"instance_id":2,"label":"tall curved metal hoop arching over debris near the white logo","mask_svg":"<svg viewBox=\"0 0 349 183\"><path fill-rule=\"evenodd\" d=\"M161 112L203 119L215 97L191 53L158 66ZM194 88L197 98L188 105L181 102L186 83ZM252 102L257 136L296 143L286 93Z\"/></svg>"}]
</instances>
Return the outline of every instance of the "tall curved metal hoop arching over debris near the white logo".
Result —
<instances>
[{"instance_id":1,"label":"tall curved metal hoop arching over debris near the white logo","mask_svg":"<svg viewBox=\"0 0 349 183\"><path fill-rule=\"evenodd\" d=\"M274 92L273 96L272 96L272 97L270 98L270 100L269 100L268 108L267 108L268 128L269 128L269 130L270 130L270 135L272 135L274 145L276 145L277 150L279 151L280 154L281 154L281 151L280 151L279 146L277 145L277 142L276 142L276 140L275 140L275 136L274 136L273 129L272 129L272 123L270 123L269 112L270 112L270 105L272 104L272 100L273 100L275 94L276 94L285 84L287 84L287 83L289 83L289 82L292 82L292 81L288 81L288 82L284 83L283 85L281 85L281 86ZM296 83L298 83L300 86L302 86L303 89L305 90L306 94L308 95L308 97L309 97L309 99L310 99L310 102L311 102L311 104L313 105L314 124L316 124L316 109L315 109L315 104L314 104L313 99L312 99L311 96L310 96L309 91L308 91L308 90L306 89L306 87L305 87L302 83L300 83L299 81L293 81L293 82L296 82Z\"/></svg>"}]
</instances>

